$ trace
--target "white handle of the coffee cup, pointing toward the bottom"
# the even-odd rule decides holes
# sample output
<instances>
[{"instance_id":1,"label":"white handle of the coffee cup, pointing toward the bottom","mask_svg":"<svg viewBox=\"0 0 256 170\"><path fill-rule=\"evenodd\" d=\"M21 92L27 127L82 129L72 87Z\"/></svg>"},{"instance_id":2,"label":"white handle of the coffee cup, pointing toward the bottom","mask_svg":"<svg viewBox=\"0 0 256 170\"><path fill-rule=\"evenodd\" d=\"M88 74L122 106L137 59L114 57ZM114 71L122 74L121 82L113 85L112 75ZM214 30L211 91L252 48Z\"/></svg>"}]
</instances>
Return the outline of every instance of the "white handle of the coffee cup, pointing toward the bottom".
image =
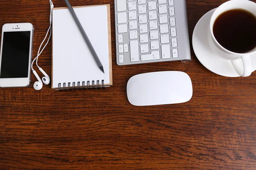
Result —
<instances>
[{"instance_id":1,"label":"white handle of the coffee cup, pointing toward the bottom","mask_svg":"<svg viewBox=\"0 0 256 170\"><path fill-rule=\"evenodd\" d=\"M244 69L241 68L240 57L231 61L233 64L233 67L235 68L235 70L236 70L237 74L239 74L239 76L241 76L241 77L250 76L252 74L252 64L251 64L250 56L244 55L241 57L241 59L242 59L243 65L244 65Z\"/></svg>"}]
</instances>

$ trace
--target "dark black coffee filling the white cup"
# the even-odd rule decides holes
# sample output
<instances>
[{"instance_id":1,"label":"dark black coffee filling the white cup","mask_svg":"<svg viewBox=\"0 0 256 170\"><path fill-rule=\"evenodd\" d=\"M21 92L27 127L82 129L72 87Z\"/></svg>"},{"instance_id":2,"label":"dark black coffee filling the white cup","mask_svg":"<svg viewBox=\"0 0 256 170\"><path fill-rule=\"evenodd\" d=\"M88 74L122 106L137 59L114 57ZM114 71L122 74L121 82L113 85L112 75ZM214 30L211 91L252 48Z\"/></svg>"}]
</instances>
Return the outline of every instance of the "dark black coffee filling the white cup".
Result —
<instances>
[{"instance_id":1,"label":"dark black coffee filling the white cup","mask_svg":"<svg viewBox=\"0 0 256 170\"><path fill-rule=\"evenodd\" d=\"M251 51L256 47L256 16L244 9L225 11L215 20L213 34L229 51Z\"/></svg>"}]
</instances>

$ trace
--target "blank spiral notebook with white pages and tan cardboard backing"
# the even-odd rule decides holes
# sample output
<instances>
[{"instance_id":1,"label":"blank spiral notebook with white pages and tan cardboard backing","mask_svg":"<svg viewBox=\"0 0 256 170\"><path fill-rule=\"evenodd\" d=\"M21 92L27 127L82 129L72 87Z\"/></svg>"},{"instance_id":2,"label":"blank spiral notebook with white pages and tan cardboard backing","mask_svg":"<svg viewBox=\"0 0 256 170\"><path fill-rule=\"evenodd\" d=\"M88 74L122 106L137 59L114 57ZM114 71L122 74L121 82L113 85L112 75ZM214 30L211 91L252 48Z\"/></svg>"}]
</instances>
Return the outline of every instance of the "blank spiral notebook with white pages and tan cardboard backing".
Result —
<instances>
[{"instance_id":1,"label":"blank spiral notebook with white pages and tan cardboard backing","mask_svg":"<svg viewBox=\"0 0 256 170\"><path fill-rule=\"evenodd\" d=\"M96 64L68 8L53 8L52 89L76 91L113 85L110 5L73 8L105 74Z\"/></svg>"}]
</instances>

